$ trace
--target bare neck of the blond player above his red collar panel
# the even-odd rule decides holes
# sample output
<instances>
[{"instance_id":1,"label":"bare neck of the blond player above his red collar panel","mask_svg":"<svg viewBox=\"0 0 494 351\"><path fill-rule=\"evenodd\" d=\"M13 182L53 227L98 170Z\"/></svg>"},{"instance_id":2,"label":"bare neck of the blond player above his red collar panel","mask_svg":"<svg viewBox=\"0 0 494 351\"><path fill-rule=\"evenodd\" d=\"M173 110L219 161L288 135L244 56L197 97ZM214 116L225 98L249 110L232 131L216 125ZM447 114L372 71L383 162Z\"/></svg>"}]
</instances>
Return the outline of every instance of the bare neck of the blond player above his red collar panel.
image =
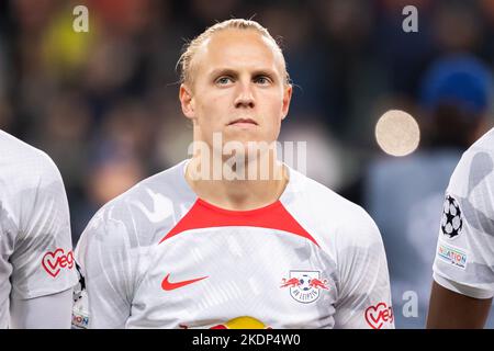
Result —
<instances>
[{"instance_id":1,"label":"bare neck of the blond player above his red collar panel","mask_svg":"<svg viewBox=\"0 0 494 351\"><path fill-rule=\"evenodd\" d=\"M246 167L254 166L259 171L254 179L248 177L248 174L245 174L245 179L240 180L225 179L226 174L223 173L223 169L224 166L226 169L228 168L225 165L225 160L220 160L216 163L216 167L218 165L222 167L222 177L217 177L216 172L215 179L213 177L213 167L209 168L207 177L199 174L198 170L203 170L203 160L200 157L193 157L187 167L186 180L198 197L217 207L232 211L248 211L263 207L280 199L289 182L288 170L273 157L269 157L269 160L257 158L251 162L257 165L250 163ZM213 163L210 161L210 165ZM269 167L268 177L261 178L259 174L262 165L268 165ZM236 171L237 174L242 173L238 169Z\"/></svg>"}]
</instances>

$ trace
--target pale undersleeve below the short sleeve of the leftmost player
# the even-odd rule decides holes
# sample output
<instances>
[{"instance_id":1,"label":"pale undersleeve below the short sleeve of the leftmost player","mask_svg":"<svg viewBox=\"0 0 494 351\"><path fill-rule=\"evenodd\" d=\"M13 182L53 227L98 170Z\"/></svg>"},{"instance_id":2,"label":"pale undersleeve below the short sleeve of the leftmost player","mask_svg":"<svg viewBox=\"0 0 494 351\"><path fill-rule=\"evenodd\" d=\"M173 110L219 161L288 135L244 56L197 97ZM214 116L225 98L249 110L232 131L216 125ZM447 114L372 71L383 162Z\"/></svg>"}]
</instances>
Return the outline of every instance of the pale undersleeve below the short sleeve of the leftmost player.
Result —
<instances>
[{"instance_id":1,"label":"pale undersleeve below the short sleeve of the leftmost player","mask_svg":"<svg viewBox=\"0 0 494 351\"><path fill-rule=\"evenodd\" d=\"M72 288L30 299L10 302L11 329L69 329Z\"/></svg>"}]
</instances>

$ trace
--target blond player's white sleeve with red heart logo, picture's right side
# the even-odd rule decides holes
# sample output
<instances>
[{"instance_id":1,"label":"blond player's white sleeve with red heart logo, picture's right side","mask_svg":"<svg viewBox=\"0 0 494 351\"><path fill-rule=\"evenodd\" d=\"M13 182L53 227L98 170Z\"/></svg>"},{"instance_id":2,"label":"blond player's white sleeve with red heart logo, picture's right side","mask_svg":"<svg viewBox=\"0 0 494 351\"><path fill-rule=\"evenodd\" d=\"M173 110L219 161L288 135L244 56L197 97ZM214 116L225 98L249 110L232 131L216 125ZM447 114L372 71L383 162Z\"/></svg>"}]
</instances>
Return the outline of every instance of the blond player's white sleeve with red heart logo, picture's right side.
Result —
<instances>
[{"instance_id":1,"label":"blond player's white sleeve with red heart logo, picture's right side","mask_svg":"<svg viewBox=\"0 0 494 351\"><path fill-rule=\"evenodd\" d=\"M338 302L335 328L394 328L388 261L381 234L361 210L351 233L336 236Z\"/></svg>"}]
</instances>

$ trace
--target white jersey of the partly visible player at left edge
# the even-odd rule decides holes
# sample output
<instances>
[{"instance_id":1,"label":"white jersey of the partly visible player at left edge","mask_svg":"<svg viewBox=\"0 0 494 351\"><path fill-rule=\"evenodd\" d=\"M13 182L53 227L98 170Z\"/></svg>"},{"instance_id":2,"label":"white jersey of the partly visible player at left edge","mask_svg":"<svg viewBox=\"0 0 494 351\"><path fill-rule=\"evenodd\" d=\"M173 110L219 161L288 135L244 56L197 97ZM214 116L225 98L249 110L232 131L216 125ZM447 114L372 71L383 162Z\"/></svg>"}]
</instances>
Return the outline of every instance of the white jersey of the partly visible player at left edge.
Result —
<instances>
[{"instance_id":1,"label":"white jersey of the partly visible player at left edge","mask_svg":"<svg viewBox=\"0 0 494 351\"><path fill-rule=\"evenodd\" d=\"M77 283L67 196L38 149L0 131L0 328L10 298L55 294Z\"/></svg>"}]
</instances>

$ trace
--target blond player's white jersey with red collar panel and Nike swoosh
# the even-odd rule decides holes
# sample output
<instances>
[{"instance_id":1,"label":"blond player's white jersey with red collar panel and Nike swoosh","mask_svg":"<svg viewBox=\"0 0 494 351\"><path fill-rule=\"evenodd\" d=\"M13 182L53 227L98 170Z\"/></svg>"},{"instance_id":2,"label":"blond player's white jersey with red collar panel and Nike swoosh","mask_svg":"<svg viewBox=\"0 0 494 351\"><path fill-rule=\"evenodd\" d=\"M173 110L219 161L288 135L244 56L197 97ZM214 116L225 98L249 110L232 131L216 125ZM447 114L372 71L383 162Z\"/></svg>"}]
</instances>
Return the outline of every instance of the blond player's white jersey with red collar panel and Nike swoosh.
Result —
<instances>
[{"instance_id":1,"label":"blond player's white jersey with red collar panel and Nike swoosh","mask_svg":"<svg viewBox=\"0 0 494 351\"><path fill-rule=\"evenodd\" d=\"M76 249L89 328L393 328L388 263L359 206L289 169L280 200L218 208L187 161L103 206ZM87 299L86 299L87 298Z\"/></svg>"}]
</instances>

